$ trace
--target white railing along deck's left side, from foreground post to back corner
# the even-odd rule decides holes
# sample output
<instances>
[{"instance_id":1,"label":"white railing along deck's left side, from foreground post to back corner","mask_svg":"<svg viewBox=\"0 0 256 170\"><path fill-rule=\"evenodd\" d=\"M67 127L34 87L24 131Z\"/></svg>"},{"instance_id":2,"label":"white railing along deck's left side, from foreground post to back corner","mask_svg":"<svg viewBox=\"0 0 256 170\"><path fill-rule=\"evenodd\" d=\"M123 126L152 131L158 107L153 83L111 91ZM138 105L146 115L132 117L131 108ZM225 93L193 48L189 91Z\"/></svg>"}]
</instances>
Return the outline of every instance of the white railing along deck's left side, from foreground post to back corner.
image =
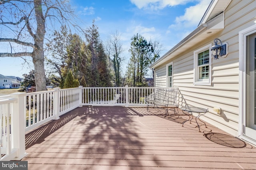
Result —
<instances>
[{"instance_id":1,"label":"white railing along deck's left side, from foreground post to back corner","mask_svg":"<svg viewBox=\"0 0 256 170\"><path fill-rule=\"evenodd\" d=\"M80 106L80 88L28 93L25 98L26 131L35 129L52 119Z\"/></svg>"}]
</instances>

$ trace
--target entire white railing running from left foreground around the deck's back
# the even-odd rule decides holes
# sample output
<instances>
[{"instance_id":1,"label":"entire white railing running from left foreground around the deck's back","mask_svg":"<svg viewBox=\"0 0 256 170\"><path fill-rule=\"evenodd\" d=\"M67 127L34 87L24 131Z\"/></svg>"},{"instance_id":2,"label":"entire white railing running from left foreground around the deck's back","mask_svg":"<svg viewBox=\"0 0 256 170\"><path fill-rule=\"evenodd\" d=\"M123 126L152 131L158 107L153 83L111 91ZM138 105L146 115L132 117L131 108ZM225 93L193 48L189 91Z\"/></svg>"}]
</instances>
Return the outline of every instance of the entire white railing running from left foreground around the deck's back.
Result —
<instances>
[{"instance_id":1,"label":"entire white railing running from left foreground around the deck's back","mask_svg":"<svg viewBox=\"0 0 256 170\"><path fill-rule=\"evenodd\" d=\"M0 161L27 155L25 133L59 119L79 106L146 106L145 98L158 88L98 87L60 89L0 96ZM169 88L168 88L169 89Z\"/></svg>"}]
</instances>

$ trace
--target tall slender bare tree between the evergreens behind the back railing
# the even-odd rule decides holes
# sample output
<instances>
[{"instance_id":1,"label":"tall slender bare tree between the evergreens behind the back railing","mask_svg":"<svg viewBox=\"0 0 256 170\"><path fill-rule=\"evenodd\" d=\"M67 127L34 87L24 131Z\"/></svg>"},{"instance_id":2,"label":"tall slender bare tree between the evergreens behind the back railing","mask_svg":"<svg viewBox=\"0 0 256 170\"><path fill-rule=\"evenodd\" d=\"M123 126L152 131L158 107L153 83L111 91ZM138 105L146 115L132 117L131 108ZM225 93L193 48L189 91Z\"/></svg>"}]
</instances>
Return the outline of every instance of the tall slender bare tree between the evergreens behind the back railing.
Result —
<instances>
[{"instance_id":1,"label":"tall slender bare tree between the evergreens behind the back railing","mask_svg":"<svg viewBox=\"0 0 256 170\"><path fill-rule=\"evenodd\" d=\"M120 78L120 64L122 61L121 53L124 51L122 48L122 44L120 42L120 33L116 31L108 38L106 42L106 51L111 62L112 68L115 74L115 84L117 87L121 85L121 78Z\"/></svg>"}]
</instances>

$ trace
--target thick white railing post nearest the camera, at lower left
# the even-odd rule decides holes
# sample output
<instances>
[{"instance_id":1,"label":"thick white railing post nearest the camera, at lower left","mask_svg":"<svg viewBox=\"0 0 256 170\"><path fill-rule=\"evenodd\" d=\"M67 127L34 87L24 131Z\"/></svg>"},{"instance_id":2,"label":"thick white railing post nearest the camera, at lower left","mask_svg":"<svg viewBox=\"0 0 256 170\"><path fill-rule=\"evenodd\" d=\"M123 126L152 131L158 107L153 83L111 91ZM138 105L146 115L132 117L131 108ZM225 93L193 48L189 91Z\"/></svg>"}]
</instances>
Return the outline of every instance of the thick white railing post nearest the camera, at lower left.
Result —
<instances>
[{"instance_id":1,"label":"thick white railing post nearest the camera, at lower left","mask_svg":"<svg viewBox=\"0 0 256 170\"><path fill-rule=\"evenodd\" d=\"M13 98L16 98L16 102L12 104L12 143L13 148L18 149L14 160L21 160L26 155L25 144L25 128L26 128L26 93L13 93L10 94Z\"/></svg>"}]
</instances>

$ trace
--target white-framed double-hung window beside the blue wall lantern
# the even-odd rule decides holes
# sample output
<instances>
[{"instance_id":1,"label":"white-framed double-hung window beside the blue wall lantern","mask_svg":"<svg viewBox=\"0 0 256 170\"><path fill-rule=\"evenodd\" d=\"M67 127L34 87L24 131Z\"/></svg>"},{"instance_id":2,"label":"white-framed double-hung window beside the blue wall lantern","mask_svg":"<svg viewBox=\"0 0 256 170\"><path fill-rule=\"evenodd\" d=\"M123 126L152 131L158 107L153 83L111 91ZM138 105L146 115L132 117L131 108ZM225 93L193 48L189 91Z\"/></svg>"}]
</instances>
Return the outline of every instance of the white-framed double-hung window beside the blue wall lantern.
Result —
<instances>
[{"instance_id":1,"label":"white-framed double-hung window beside the blue wall lantern","mask_svg":"<svg viewBox=\"0 0 256 170\"><path fill-rule=\"evenodd\" d=\"M212 44L194 51L194 85L211 85Z\"/></svg>"}]
</instances>

